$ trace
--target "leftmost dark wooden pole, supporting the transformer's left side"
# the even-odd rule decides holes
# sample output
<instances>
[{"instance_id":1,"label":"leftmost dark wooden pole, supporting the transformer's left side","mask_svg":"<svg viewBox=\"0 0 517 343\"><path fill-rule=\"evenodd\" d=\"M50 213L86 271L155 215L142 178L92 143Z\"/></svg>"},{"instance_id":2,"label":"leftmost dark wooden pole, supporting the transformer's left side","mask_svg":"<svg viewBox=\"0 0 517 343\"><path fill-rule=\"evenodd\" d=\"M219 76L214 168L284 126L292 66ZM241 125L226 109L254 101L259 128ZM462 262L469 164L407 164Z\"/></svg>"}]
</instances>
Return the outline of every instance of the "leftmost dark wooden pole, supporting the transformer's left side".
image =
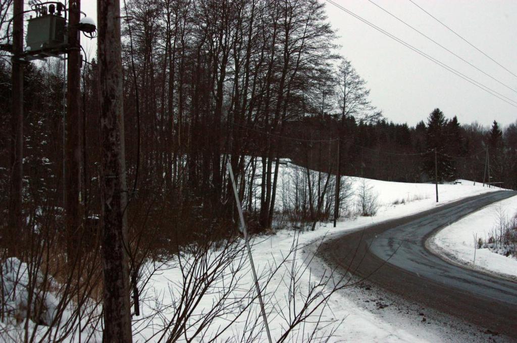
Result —
<instances>
[{"instance_id":1,"label":"leftmost dark wooden pole, supporting the transformer's left side","mask_svg":"<svg viewBox=\"0 0 517 343\"><path fill-rule=\"evenodd\" d=\"M12 113L11 113L11 178L9 199L9 238L22 227L23 179L23 0L14 0L12 26ZM12 244L9 244L12 246Z\"/></svg>"}]
</instances>

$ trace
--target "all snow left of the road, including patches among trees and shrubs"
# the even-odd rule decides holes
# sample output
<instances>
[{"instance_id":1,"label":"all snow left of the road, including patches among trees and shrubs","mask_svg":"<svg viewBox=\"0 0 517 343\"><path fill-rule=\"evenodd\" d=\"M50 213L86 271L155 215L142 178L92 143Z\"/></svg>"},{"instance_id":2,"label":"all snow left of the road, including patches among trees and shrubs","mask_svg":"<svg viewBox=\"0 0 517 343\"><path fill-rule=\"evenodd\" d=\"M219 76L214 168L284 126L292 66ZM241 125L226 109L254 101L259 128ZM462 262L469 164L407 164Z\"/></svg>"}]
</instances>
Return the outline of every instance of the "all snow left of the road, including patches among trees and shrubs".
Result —
<instances>
[{"instance_id":1,"label":"all snow left of the road, including patches among trees and shrubs","mask_svg":"<svg viewBox=\"0 0 517 343\"><path fill-rule=\"evenodd\" d=\"M296 173L300 172L299 167L291 164L283 164L280 168L281 179L279 180L278 192L291 187L291 177L295 175L293 174L294 171ZM260 175L258 172L257 174ZM294 296L296 301L303 301L307 291L312 289L311 287L317 286L319 280L322 280L322 278L325 280L325 277L328 277L329 267L322 260L312 258L310 250L312 248L310 247L315 241L322 241L346 231L357 230L363 226L419 213L447 202L496 190L494 188L484 188L480 184L474 185L473 182L467 181L462 181L460 184L439 185L440 202L437 204L434 194L435 185L433 184L394 183L359 177L343 177L343 182L345 179L351 185L351 195L348 199L351 204L354 203L357 191L362 184L366 184L372 192L377 194L380 208L375 217L342 218L335 228L329 223L318 223L315 231L280 230L275 235L254 238L252 253L258 274L262 275L262 285L264 284L264 278L267 279L268 271L283 262L282 267L276 274L271 275L267 287L263 289L271 334L275 340L285 331L286 320L293 313L293 303L290 302L290 299L293 299ZM258 182L260 183L260 179ZM277 204L281 204L281 193L278 193L278 197ZM292 251L294 243L299 248L296 254ZM218 249L210 251L205 257L203 265L210 266L214 261L220 259L219 251ZM188 332L195 333L200 323L210 315L210 309L215 304L219 304L221 290L229 287L232 289L230 297L224 300L229 307L225 307L224 315L214 318L212 324L206 330L201 331L204 334L203 337L206 340L210 337L216 337L221 328L230 323L230 329L217 336L217 340L224 341L227 339L232 341L239 335L246 335L250 322L254 320L258 323L262 322L256 300L250 307L247 307L246 303L254 292L246 254L239 253L236 256L238 258L234 263L229 264L226 270L217 272L219 273L217 274L217 281L210 285L205 295L199 299L199 305L191 313ZM203 277L203 274L194 275L193 279L185 277L185 272L189 268L188 264L192 261L190 257L188 254L179 257L182 259L182 264L187 268L183 272L179 268L178 261L171 260L167 266L163 266L155 273L146 285L145 297L141 299L142 315L133 317L135 341L145 341L147 339L157 341L161 336L161 328L164 325L174 324L174 314L178 311L176 305L181 303L183 299L182 291L185 284L189 280L202 282L199 278ZM4 264L2 277L6 285L4 292L7 292L4 293L4 297L8 299L8 308L12 311L9 318L18 316L23 318L23 308L28 295L23 287L26 265L18 260L9 260L8 262L11 267L6 265L7 262ZM149 266L149 268L152 270L153 266ZM206 268L209 269L209 267ZM22 271L21 274L20 270ZM214 269L210 270L213 271ZM290 282L289 277L290 273L293 272L297 276L295 287ZM18 280L22 280L22 282L17 284L12 282L12 280L15 280L15 274L18 275ZM190 287L192 287L192 284ZM318 291L324 294L328 289L318 288ZM445 340L446 334L442 331L443 325L441 323L437 323L435 326L422 325L420 317L417 317L417 320L401 320L398 316L404 315L390 312L389 316L385 316L387 312L373 312L352 299L350 291L350 289L344 289L334 293L325 302L326 306L321 308L322 311L316 311L312 317L306 320L305 324L300 326L300 330L292 333L288 340L299 341L307 338L304 335L314 328L315 322L318 320L320 320L320 323L330 325L324 327L324 333L328 334L331 330L336 330L333 332L330 341L424 342ZM242 301L232 302L235 299L242 299ZM46 311L47 319L52 318L52 306L56 302L55 297L45 299L45 306L48 307ZM160 315L153 315L157 308L161 309L162 312ZM18 314L15 314L17 311ZM234 311L244 311L246 315L236 318ZM0 325L3 326L0 327L0 330L23 328L23 325L18 325L16 320L7 324L0 323ZM32 330L31 328L34 328L34 322L32 321L29 323L29 331ZM38 330L42 330L41 328L42 326L39 326ZM200 337L200 334L197 337ZM97 338L100 338L100 336L97 335ZM255 337L255 339L265 340L265 333Z\"/></svg>"}]
</instances>

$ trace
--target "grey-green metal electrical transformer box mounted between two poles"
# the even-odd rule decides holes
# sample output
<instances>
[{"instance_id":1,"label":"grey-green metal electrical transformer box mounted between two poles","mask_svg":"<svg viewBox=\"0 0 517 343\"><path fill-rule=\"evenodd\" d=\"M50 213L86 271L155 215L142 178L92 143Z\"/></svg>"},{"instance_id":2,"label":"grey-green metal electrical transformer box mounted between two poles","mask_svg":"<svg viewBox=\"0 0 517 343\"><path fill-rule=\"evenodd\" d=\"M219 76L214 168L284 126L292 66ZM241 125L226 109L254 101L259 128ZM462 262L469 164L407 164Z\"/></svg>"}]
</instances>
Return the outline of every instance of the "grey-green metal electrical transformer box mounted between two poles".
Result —
<instances>
[{"instance_id":1,"label":"grey-green metal electrical transformer box mounted between two poles","mask_svg":"<svg viewBox=\"0 0 517 343\"><path fill-rule=\"evenodd\" d=\"M67 45L66 19L54 14L44 14L28 20L26 52L45 51L65 53Z\"/></svg>"}]
</instances>

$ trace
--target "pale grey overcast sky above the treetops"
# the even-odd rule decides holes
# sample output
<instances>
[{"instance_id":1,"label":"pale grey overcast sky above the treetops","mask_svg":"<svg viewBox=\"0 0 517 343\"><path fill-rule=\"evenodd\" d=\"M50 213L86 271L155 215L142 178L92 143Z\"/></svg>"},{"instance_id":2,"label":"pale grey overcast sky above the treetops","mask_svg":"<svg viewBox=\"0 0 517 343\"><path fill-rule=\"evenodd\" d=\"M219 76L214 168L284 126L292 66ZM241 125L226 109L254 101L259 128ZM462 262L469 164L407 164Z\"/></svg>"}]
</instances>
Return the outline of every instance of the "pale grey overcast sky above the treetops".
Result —
<instances>
[{"instance_id":1,"label":"pale grey overcast sky above the treetops","mask_svg":"<svg viewBox=\"0 0 517 343\"><path fill-rule=\"evenodd\" d=\"M413 0L467 41L517 75L516 0ZM409 0L372 0L420 30L499 82L435 45L368 0L336 0L341 6L444 62L453 69L517 102L517 77L497 66L412 4ZM83 0L82 9L97 18L96 1ZM386 37L367 24L326 3L328 19L337 29L340 53L367 80L372 103L393 122L414 126L438 107L460 123L478 121L506 126L517 120L517 107ZM89 51L95 53L94 45ZM517 106L517 103L514 103Z\"/></svg>"}]
</instances>

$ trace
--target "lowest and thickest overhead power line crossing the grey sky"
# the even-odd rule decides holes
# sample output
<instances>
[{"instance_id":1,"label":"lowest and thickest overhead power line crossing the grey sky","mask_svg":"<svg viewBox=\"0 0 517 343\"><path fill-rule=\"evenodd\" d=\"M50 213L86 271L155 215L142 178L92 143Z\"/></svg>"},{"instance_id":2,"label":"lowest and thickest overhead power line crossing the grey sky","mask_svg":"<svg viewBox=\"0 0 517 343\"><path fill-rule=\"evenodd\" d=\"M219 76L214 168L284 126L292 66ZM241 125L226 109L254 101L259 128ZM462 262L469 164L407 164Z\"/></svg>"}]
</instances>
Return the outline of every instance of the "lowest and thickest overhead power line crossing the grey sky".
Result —
<instances>
[{"instance_id":1,"label":"lowest and thickest overhead power line crossing the grey sky","mask_svg":"<svg viewBox=\"0 0 517 343\"><path fill-rule=\"evenodd\" d=\"M354 12L352 11L349 11L347 10L346 8L342 7L341 5L338 5L336 4L335 2L333 2L332 0L326 0L328 3L336 6L338 9L341 9L342 11L352 15L352 17L362 21L363 23L373 27L374 29L376 29L377 31L381 32L382 34L388 36L389 38L401 43L402 45L406 46L407 48L409 48L410 50L413 50L414 52L422 55L423 57L429 59L430 61L438 64L438 66L450 71L451 73L463 78L464 80L468 81L470 84L473 84L474 86L478 87L479 89L481 90L484 90L485 92L489 93L489 94L492 94L493 96L497 97L497 99L499 100L502 100L504 102L506 102L507 104L513 106L513 107L516 107L517 108L517 102L509 99L508 97L504 96L503 94L500 94L496 91L494 91L493 89L489 88L489 87L486 87L484 85L482 85L481 83L479 83L478 81L466 76L465 74L455 70L454 68L452 67L449 67L447 66L447 64L443 63L443 62L440 62L439 60L435 59L434 57L422 52L421 50L419 50L418 48L414 47L413 45L409 44L409 43L406 43L405 41L401 40L400 38L396 37L396 36L393 36L392 34L390 34L389 32L387 32L386 30L376 26L375 24L367 21L366 19L363 19L362 17L359 17L359 15L355 14ZM506 98L506 99L504 99Z\"/></svg>"}]
</instances>

